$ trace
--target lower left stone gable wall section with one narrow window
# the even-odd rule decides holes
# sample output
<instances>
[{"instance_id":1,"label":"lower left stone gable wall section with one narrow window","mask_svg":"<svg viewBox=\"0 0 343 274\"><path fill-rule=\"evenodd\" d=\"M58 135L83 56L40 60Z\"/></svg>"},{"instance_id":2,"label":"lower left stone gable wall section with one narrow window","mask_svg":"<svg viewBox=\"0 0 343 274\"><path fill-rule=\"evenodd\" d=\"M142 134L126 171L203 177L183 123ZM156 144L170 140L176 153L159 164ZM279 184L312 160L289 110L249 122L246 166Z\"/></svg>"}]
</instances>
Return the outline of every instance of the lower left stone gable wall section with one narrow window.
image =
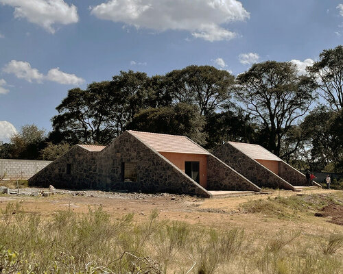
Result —
<instances>
[{"instance_id":1,"label":"lower left stone gable wall section with one narrow window","mask_svg":"<svg viewBox=\"0 0 343 274\"><path fill-rule=\"evenodd\" d=\"M29 186L87 189L97 188L97 155L74 146L69 152L45 167L29 179ZM71 174L67 174L67 164L71 164ZM106 188L106 186L102 186Z\"/></svg>"}]
</instances>

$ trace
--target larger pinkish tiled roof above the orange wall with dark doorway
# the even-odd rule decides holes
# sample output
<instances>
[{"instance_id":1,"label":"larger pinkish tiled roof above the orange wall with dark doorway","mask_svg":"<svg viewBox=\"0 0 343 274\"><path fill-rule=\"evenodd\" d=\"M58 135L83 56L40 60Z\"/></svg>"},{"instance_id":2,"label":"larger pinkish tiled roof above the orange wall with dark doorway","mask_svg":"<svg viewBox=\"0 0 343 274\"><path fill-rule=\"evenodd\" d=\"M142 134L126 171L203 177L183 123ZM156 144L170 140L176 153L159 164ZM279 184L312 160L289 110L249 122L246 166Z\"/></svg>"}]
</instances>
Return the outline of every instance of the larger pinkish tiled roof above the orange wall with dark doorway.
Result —
<instances>
[{"instance_id":1,"label":"larger pinkish tiled roof above the orange wall with dark doorway","mask_svg":"<svg viewBox=\"0 0 343 274\"><path fill-rule=\"evenodd\" d=\"M158 152L210 154L209 151L185 136L136 132L134 130L128 130L128 132Z\"/></svg>"}]
</instances>

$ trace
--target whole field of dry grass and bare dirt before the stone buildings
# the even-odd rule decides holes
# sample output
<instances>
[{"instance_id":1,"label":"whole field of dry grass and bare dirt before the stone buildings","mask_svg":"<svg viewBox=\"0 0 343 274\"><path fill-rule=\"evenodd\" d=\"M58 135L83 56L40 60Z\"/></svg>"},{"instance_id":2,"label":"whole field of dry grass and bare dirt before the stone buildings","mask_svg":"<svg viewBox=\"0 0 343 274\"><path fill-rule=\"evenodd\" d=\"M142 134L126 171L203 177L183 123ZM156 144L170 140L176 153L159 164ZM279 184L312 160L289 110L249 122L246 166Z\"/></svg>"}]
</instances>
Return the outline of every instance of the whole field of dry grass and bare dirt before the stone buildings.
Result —
<instances>
[{"instance_id":1,"label":"whole field of dry grass and bare dirt before the stone buildings","mask_svg":"<svg viewBox=\"0 0 343 274\"><path fill-rule=\"evenodd\" d=\"M340 191L0 201L3 273L343 273Z\"/></svg>"}]
</instances>

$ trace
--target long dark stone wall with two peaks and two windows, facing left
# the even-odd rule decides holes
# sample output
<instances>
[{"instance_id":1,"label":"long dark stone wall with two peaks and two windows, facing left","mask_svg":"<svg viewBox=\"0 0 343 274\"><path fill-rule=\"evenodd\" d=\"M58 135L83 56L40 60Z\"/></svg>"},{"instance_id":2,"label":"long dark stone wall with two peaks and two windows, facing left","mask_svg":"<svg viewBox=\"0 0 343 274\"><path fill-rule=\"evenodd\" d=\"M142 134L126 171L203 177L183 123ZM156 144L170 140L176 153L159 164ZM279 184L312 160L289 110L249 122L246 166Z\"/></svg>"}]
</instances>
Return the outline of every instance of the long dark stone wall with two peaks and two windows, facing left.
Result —
<instances>
[{"instance_id":1,"label":"long dark stone wall with two peaks and two windows, facing left","mask_svg":"<svg viewBox=\"0 0 343 274\"><path fill-rule=\"evenodd\" d=\"M122 182L121 163L137 163L137 182ZM71 164L71 174L67 174ZM30 186L174 192L211 197L202 186L158 152L124 132L100 152L73 147L29 179Z\"/></svg>"}]
</instances>

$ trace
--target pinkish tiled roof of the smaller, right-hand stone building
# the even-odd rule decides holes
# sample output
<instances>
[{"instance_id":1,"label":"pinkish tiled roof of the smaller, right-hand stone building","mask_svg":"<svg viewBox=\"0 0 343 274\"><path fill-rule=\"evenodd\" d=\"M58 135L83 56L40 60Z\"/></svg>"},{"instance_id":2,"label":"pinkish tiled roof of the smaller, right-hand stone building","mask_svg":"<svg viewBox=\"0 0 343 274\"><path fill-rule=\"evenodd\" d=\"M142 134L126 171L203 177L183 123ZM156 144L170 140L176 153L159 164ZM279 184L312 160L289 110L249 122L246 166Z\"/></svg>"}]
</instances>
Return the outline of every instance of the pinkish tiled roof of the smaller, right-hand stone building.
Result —
<instances>
[{"instance_id":1,"label":"pinkish tiled roof of the smaller, right-hand stone building","mask_svg":"<svg viewBox=\"0 0 343 274\"><path fill-rule=\"evenodd\" d=\"M246 144L244 142L228 142L233 145L236 149L248 155L250 158L255 160L272 160L282 161L279 157L261 147L260 145Z\"/></svg>"}]
</instances>

